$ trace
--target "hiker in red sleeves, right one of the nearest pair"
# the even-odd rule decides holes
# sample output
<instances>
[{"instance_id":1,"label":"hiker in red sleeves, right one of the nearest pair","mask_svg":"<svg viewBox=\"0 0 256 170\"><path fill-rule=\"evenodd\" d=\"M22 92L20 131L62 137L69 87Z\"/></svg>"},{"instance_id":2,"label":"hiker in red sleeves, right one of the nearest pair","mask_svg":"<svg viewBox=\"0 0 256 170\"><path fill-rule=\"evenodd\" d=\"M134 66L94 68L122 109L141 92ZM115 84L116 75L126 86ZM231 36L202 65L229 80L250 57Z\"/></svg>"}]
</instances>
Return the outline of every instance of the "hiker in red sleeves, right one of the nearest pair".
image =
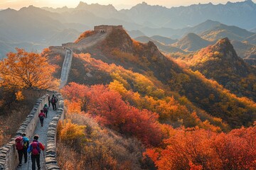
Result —
<instances>
[{"instance_id":1,"label":"hiker in red sleeves, right one of the nearest pair","mask_svg":"<svg viewBox=\"0 0 256 170\"><path fill-rule=\"evenodd\" d=\"M36 164L38 169L41 169L40 166L40 153L41 150L44 151L45 147L41 142L38 142L38 135L33 137L33 142L28 147L28 153L31 153L31 161L32 161L32 170L36 170Z\"/></svg>"}]
</instances>

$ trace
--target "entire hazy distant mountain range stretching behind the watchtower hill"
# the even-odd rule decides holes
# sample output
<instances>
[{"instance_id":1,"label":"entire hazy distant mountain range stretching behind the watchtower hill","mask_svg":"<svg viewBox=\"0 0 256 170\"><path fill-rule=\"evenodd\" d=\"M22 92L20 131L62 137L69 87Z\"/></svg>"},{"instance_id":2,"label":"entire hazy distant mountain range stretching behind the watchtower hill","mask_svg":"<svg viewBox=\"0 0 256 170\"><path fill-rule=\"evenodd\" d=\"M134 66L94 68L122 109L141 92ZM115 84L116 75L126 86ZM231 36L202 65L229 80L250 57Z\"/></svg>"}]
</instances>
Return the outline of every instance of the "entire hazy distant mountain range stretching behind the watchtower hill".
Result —
<instances>
[{"instance_id":1,"label":"entire hazy distant mountain range stretching behind the watchtower hill","mask_svg":"<svg viewBox=\"0 0 256 170\"><path fill-rule=\"evenodd\" d=\"M213 42L228 37L255 45L256 17L251 17L256 16L255 6L252 1L176 8L142 3L129 10L117 11L112 5L80 2L75 8L28 6L18 11L8 8L0 11L0 57L15 47L41 51L50 45L73 42L80 33L102 24L122 25L132 38L147 36L161 45L171 45L188 33ZM197 50L206 45L184 49Z\"/></svg>"}]
</instances>

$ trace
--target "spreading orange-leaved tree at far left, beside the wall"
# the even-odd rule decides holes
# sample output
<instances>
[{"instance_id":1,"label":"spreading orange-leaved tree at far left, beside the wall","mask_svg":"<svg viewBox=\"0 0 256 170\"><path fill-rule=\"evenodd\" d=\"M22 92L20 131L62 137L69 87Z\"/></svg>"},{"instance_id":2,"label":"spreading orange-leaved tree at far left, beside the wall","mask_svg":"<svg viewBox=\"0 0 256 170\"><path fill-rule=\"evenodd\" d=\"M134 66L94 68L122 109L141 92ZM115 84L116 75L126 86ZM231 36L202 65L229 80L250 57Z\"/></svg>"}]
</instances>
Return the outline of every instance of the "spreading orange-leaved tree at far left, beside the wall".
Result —
<instances>
[{"instance_id":1,"label":"spreading orange-leaved tree at far left, beside the wall","mask_svg":"<svg viewBox=\"0 0 256 170\"><path fill-rule=\"evenodd\" d=\"M9 88L28 89L36 87L49 89L56 86L52 74L55 67L48 59L34 52L16 48L0 62L0 83Z\"/></svg>"}]
</instances>

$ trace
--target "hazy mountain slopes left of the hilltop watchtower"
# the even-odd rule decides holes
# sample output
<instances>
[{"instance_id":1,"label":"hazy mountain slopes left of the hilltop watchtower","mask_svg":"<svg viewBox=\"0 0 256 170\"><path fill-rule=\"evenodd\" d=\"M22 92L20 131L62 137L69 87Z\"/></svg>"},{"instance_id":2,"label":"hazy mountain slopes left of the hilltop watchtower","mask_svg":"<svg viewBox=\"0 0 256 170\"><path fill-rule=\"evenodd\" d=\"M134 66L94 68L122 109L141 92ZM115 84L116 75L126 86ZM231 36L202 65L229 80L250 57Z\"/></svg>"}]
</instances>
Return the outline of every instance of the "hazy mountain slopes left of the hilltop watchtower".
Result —
<instances>
[{"instance_id":1,"label":"hazy mountain slopes left of the hilltop watchtower","mask_svg":"<svg viewBox=\"0 0 256 170\"><path fill-rule=\"evenodd\" d=\"M34 6L0 11L0 57L15 47L41 51L49 45L73 41L80 35L78 30L68 28L57 18L61 18L58 13Z\"/></svg>"}]
</instances>

